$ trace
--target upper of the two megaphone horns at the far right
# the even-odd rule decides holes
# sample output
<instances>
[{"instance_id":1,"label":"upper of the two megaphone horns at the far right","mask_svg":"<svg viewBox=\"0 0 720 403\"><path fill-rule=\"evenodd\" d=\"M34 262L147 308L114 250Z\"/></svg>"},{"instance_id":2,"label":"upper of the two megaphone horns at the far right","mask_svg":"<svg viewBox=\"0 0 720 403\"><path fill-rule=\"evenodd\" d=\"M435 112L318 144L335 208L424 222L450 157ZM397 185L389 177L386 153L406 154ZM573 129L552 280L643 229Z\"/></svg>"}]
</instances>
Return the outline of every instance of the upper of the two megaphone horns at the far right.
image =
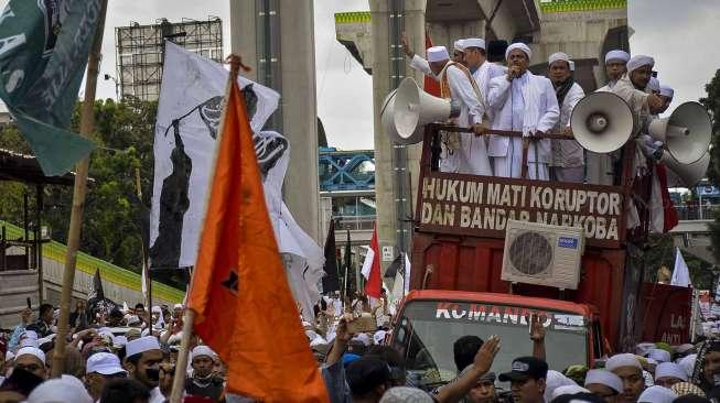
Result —
<instances>
[{"instance_id":1,"label":"upper of the two megaphone horns at the far right","mask_svg":"<svg viewBox=\"0 0 720 403\"><path fill-rule=\"evenodd\" d=\"M664 142L677 162L692 164L708 152L712 123L707 109L690 101L677 107L669 118L653 120L648 133Z\"/></svg>"}]
</instances>

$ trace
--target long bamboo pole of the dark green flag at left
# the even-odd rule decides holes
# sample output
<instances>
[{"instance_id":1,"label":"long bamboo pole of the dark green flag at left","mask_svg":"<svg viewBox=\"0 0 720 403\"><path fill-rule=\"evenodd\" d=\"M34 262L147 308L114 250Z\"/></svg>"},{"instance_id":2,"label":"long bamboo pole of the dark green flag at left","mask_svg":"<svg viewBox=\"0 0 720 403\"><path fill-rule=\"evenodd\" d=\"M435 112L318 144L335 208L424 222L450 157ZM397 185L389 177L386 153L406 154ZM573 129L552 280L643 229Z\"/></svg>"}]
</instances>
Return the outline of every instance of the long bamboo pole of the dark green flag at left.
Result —
<instances>
[{"instance_id":1,"label":"long bamboo pole of the dark green flag at left","mask_svg":"<svg viewBox=\"0 0 720 403\"><path fill-rule=\"evenodd\" d=\"M94 107L97 75L100 65L100 51L103 47L103 31L105 30L105 14L107 0L100 4L100 15L95 28L95 37L87 61L87 79L85 81L85 97L80 110L80 135L88 138L95 124ZM77 163L75 185L73 188L73 207L71 211L69 229L67 231L67 252L65 253L65 268L63 271L63 290L60 304L60 318L57 323L57 337L53 353L52 378L58 378L65 366L65 345L69 327L69 305L73 297L73 283L75 282L75 263L80 244L80 226L83 224L83 209L85 208L85 194L87 190L87 172L90 165L89 155Z\"/></svg>"}]
</instances>

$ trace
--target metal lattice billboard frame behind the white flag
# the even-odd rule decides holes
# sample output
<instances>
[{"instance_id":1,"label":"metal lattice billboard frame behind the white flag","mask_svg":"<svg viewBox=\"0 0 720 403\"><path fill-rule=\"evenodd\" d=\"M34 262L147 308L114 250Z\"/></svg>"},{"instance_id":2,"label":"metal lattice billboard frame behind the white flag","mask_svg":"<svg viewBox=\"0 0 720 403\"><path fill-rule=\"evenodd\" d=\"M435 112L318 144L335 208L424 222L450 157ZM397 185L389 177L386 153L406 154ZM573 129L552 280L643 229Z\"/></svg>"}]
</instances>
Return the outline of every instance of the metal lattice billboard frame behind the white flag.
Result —
<instances>
[{"instance_id":1,"label":"metal lattice billboard frame behind the white flag","mask_svg":"<svg viewBox=\"0 0 720 403\"><path fill-rule=\"evenodd\" d=\"M171 23L161 19L151 25L133 23L116 28L115 37L120 97L158 100L165 40L213 61L223 59L223 22L216 17L207 21L183 19Z\"/></svg>"}]
</instances>

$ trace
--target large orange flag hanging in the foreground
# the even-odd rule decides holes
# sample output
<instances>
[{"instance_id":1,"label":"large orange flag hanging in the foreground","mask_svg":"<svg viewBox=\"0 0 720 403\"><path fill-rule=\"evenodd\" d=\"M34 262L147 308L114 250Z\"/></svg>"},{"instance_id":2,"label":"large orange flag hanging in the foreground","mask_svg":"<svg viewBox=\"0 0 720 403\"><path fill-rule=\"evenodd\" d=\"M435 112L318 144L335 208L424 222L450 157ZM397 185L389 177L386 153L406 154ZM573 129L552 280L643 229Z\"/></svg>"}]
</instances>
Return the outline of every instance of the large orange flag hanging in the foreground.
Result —
<instances>
[{"instance_id":1,"label":"large orange flag hanging in the foreground","mask_svg":"<svg viewBox=\"0 0 720 403\"><path fill-rule=\"evenodd\" d=\"M195 333L227 363L228 392L329 402L286 280L235 83L226 108L187 297Z\"/></svg>"}]
</instances>

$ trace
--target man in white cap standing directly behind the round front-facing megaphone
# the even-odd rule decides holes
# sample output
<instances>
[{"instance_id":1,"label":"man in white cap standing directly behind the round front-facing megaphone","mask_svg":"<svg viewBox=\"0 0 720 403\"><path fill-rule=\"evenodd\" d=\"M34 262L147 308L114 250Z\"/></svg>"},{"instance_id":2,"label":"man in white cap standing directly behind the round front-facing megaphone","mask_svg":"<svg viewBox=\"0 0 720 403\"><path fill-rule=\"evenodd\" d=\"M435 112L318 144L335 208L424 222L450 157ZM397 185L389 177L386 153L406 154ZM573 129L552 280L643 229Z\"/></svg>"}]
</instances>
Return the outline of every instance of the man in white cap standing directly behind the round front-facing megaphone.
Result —
<instances>
[{"instance_id":1,"label":"man in white cap standing directly behind the round front-facing megaphone","mask_svg":"<svg viewBox=\"0 0 720 403\"><path fill-rule=\"evenodd\" d=\"M610 92L625 74L630 54L625 51L614 50L605 55L605 74L608 84L597 89L601 92ZM614 181L614 159L612 154L598 154L592 151L585 153L587 182L594 185L612 185Z\"/></svg>"}]
</instances>

